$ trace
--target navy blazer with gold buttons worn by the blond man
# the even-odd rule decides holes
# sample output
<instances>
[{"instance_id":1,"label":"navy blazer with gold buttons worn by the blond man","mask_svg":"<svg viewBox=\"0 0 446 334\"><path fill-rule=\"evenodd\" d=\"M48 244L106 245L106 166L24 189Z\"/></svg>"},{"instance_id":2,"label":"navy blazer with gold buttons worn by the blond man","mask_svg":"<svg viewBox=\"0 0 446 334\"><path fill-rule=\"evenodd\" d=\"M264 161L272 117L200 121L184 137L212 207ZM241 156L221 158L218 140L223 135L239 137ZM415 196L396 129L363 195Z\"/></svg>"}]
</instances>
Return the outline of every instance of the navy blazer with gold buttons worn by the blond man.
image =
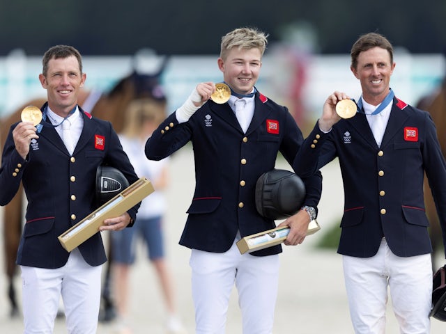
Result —
<instances>
[{"instance_id":1,"label":"navy blazer with gold buttons worn by the blond man","mask_svg":"<svg viewBox=\"0 0 446 334\"><path fill-rule=\"evenodd\" d=\"M146 157L160 160L192 141L195 191L180 244L221 253L229 250L240 230L242 237L275 228L275 222L256 211L254 193L259 176L275 167L282 153L291 165L303 141L288 109L256 93L254 116L246 134L229 104L212 100L187 122L172 113L146 143ZM316 207L321 175L305 181L305 205ZM253 255L280 253L281 246Z\"/></svg>"}]
</instances>

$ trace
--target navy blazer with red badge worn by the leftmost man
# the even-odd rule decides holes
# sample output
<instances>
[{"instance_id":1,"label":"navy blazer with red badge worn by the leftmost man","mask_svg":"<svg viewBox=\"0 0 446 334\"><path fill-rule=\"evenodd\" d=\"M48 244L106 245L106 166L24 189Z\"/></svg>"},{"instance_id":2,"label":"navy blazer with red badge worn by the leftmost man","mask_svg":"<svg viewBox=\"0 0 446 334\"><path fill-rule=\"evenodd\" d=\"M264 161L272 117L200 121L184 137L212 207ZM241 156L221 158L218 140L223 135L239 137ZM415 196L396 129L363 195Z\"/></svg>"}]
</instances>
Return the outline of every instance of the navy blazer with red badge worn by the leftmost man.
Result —
<instances>
[{"instance_id":1,"label":"navy blazer with red badge worn by the leftmost man","mask_svg":"<svg viewBox=\"0 0 446 334\"><path fill-rule=\"evenodd\" d=\"M20 182L28 200L17 264L40 268L66 264L69 253L57 238L97 208L95 175L100 164L121 170L130 184L138 180L112 124L92 118L82 109L80 112L84 127L72 155L54 127L43 127L39 138L31 141L24 160L13 140L17 123L10 128L0 168L0 205L10 202ZM138 207L128 211L134 220ZM107 260L100 233L81 244L79 250L92 266Z\"/></svg>"}]
</instances>

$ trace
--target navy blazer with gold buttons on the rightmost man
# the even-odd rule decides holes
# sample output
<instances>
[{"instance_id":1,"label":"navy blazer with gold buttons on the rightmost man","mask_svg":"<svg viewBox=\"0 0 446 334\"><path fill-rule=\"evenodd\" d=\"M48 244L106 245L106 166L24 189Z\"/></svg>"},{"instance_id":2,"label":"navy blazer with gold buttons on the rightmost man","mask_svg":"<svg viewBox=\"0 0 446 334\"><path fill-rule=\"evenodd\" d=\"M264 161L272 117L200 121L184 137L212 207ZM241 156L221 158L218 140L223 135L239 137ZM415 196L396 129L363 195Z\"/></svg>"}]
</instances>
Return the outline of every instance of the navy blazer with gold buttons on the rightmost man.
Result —
<instances>
[{"instance_id":1,"label":"navy blazer with gold buttons on the rightmost man","mask_svg":"<svg viewBox=\"0 0 446 334\"><path fill-rule=\"evenodd\" d=\"M295 168L305 175L334 157L339 157L344 182L338 253L374 256L383 237L395 255L431 253L424 173L436 201L446 245L446 163L429 113L394 98L379 148L364 113L340 120L328 134L316 124L298 154Z\"/></svg>"}]
</instances>

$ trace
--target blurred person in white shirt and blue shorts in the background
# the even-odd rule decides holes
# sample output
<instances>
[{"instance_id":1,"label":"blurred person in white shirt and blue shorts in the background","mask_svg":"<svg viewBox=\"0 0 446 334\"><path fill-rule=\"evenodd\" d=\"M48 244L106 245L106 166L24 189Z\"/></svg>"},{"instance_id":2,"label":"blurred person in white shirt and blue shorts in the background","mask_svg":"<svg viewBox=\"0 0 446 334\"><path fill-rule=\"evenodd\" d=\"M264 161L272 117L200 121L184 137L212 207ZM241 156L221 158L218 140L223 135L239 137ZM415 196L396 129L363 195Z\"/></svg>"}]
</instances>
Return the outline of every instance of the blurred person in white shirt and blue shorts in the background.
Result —
<instances>
[{"instance_id":1,"label":"blurred person in white shirt and blue shorts in the background","mask_svg":"<svg viewBox=\"0 0 446 334\"><path fill-rule=\"evenodd\" d=\"M169 182L169 158L149 161L144 155L147 138L166 116L166 101L134 100L128 106L126 115L123 132L119 135L123 149L128 154L137 175L147 177L152 182L155 192L142 200L137 226L112 234L112 280L118 312L118 330L119 333L132 333L128 321L129 276L137 253L137 241L141 238L162 289L167 308L167 331L185 333L176 312L171 273L165 260L163 216L166 200L163 191Z\"/></svg>"}]
</instances>

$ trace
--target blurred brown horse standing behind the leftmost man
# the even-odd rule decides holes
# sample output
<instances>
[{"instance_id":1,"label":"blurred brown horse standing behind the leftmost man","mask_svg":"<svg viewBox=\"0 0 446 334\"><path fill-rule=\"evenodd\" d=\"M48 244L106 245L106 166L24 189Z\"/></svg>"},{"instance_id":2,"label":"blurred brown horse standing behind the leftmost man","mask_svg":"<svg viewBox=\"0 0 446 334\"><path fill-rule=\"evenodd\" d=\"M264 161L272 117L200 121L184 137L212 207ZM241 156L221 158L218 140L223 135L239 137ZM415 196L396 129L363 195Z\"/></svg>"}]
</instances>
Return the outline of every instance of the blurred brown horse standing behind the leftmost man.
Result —
<instances>
[{"instance_id":1,"label":"blurred brown horse standing behind the leftmost man","mask_svg":"<svg viewBox=\"0 0 446 334\"><path fill-rule=\"evenodd\" d=\"M165 107L167 100L164 96L160 84L162 72L167 65L167 58L160 65L160 69L153 74L141 74L134 70L127 77L122 78L118 83L108 92L102 94L97 91L83 90L79 93L78 103L82 106L84 111L91 113L95 118L102 120L109 120L117 133L123 129L125 113L128 104L137 99L150 99L156 103L162 104ZM9 116L0 120L0 139L1 148L6 141L10 126L15 122L21 120L20 113L25 106L43 106L46 99L35 99L24 103ZM13 198L13 200L3 207L3 238L4 238L4 254L6 262L6 275L8 276L8 299L10 301L10 317L19 315L19 308L17 305L15 287L13 278L17 271L15 258L17 249L22 234L22 223L24 217L24 207L26 200L24 200L24 193L22 186ZM110 243L108 243L109 245ZM107 245L107 243L106 243ZM105 271L105 283L102 287L102 308L101 318L103 321L109 321L114 317L114 305L109 292L109 271L110 264L113 260L111 248L108 248L107 267Z\"/></svg>"}]
</instances>

